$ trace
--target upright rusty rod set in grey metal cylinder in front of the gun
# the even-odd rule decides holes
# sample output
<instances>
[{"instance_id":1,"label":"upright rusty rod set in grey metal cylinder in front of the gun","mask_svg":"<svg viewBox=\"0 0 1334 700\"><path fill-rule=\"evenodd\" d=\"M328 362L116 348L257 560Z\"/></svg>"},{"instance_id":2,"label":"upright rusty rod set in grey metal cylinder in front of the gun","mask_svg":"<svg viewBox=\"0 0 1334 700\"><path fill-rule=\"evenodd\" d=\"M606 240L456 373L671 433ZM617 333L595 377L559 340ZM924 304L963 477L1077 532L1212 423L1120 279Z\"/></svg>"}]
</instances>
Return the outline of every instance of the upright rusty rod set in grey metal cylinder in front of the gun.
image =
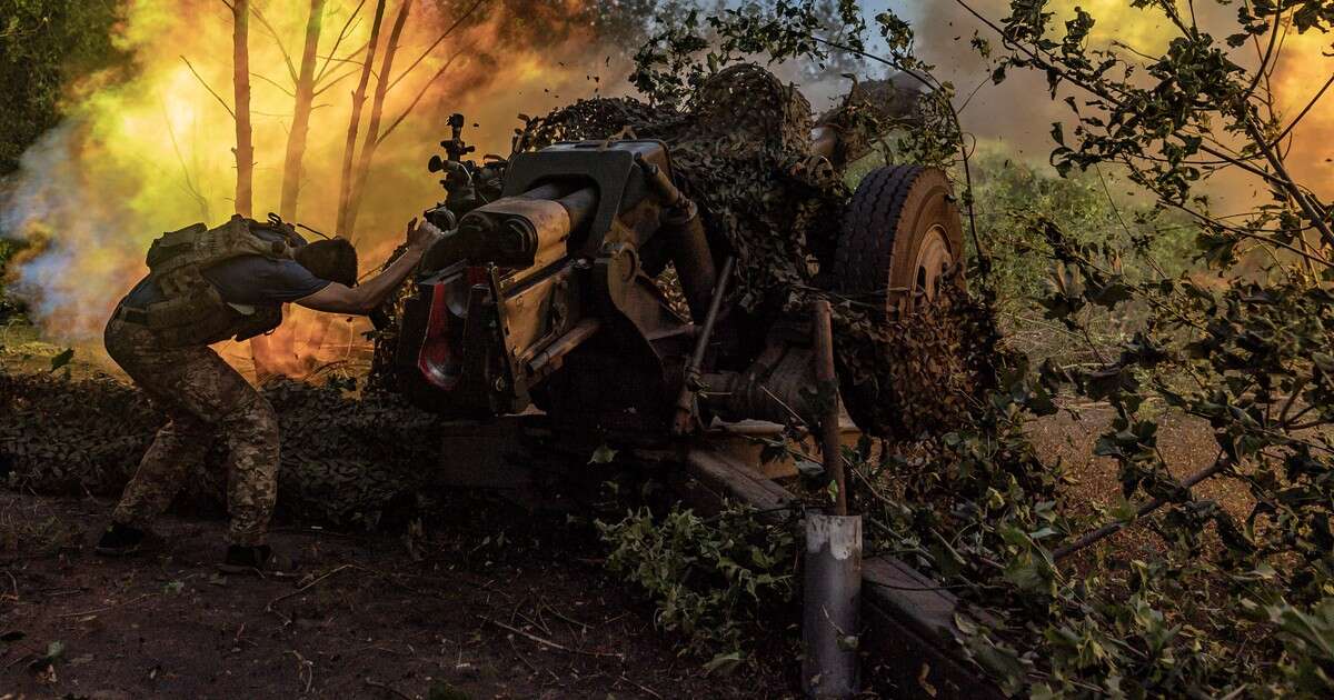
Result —
<instances>
[{"instance_id":1,"label":"upright rusty rod set in grey metal cylinder in front of the gun","mask_svg":"<svg viewBox=\"0 0 1334 700\"><path fill-rule=\"evenodd\" d=\"M862 517L847 515L828 301L815 303L814 327L820 449L838 495L834 515L806 513L802 688L807 697L851 697L860 689L856 651L862 611Z\"/></svg>"}]
</instances>

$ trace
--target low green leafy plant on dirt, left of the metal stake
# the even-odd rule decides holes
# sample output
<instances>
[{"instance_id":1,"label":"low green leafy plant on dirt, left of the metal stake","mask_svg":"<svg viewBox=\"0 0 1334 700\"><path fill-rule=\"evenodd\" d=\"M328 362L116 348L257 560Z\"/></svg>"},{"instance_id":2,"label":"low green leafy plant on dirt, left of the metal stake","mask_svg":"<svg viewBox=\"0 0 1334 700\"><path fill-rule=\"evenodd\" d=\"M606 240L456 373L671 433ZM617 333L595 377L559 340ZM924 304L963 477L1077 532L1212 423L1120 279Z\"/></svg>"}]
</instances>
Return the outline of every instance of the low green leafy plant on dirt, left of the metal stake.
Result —
<instances>
[{"instance_id":1,"label":"low green leafy plant on dirt, left of the metal stake","mask_svg":"<svg viewBox=\"0 0 1334 700\"><path fill-rule=\"evenodd\" d=\"M731 505L700 517L674 504L662 519L648 508L619 523L598 523L611 547L607 568L655 601L658 627L680 632L684 652L711 656L712 667L739 661L764 632L767 611L792 596L792 535Z\"/></svg>"}]
</instances>

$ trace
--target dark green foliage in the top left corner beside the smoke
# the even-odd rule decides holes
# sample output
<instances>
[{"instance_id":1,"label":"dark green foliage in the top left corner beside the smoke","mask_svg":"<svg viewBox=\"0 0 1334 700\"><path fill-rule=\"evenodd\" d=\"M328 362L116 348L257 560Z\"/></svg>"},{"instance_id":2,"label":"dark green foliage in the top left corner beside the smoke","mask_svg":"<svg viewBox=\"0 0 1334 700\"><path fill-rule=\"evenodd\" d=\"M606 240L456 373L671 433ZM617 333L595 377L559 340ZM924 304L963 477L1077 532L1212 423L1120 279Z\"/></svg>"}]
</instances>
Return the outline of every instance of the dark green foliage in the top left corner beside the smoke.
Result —
<instances>
[{"instance_id":1,"label":"dark green foliage in the top left corner beside the smoke","mask_svg":"<svg viewBox=\"0 0 1334 700\"><path fill-rule=\"evenodd\" d=\"M113 0L0 0L0 175L60 119L71 79L121 61Z\"/></svg>"}]
</instances>

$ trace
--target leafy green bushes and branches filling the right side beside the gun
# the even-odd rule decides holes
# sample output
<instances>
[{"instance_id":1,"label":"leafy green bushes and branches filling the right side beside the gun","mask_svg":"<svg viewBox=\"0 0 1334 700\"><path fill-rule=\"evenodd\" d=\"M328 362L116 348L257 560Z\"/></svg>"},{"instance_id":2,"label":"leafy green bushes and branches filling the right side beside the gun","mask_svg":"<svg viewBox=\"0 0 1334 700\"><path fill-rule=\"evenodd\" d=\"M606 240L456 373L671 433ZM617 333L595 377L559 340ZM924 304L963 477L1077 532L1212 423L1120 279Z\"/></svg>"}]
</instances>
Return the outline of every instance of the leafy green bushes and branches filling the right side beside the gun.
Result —
<instances>
[{"instance_id":1,"label":"leafy green bushes and branches filling the right side beside the gun","mask_svg":"<svg viewBox=\"0 0 1334 700\"><path fill-rule=\"evenodd\" d=\"M972 189L962 160L964 204L982 207L978 239L990 248L978 252L998 260L979 265L970 284L991 300L1033 293L1042 260L1051 272L1038 309L1083 339L1091 356L1002 363L999 391L976 407L972 425L875 461L868 449L852 455L860 477L850 496L866 513L872 547L931 572L975 608L958 620L959 643L1009 692L1329 696L1330 204L1283 164L1294 123L1271 109L1257 72L1277 53L1246 69L1253 61L1234 52L1246 49L1249 61L1255 43L1265 56L1287 21L1323 33L1334 16L1327 3L1242 4L1238 32L1219 40L1183 16L1181 3L1135 0L1175 32L1161 56L1143 56L1117 44L1094 48L1097 17L1077 9L1057 27L1047 5L1017 0L1005 17L978 15L999 45L976 37L972 47L990 61L992 81L1037 71L1050 97L1070 107L1050 129L1051 163L1069 180L1002 172ZM750 51L818 55L827 47L799 39L810 8L791 3L771 15L780 27L731 25L752 40L739 43ZM930 72L911 57L906 23L891 13L876 20L888 47L882 63ZM854 51L867 44L844 41ZM952 91L942 96L938 104L958 107ZM948 120L935 124L939 143L963 143ZM1153 207L1117 211L1106 191L1099 201L1102 167L1153 195ZM1243 216L1215 216L1202 185L1222 172L1255 179L1271 200ZM983 205L983 193L996 209ZM1021 256L1027 265L1007 263ZM998 303L1019 308L1015 299ZM1135 325L1095 344L1091 327L1118 315ZM1114 412L1093 456L1117 464L1125 503L1094 517L1074 515L1087 504L1071 500L1059 464L1039 460L1026 432L1030 419L1067 397ZM1174 473L1158 448L1161 409L1150 405L1206 420L1214 463ZM1246 492L1249 512L1193 492L1205 480ZM1137 524L1157 535L1137 557L1094 547Z\"/></svg>"}]
</instances>

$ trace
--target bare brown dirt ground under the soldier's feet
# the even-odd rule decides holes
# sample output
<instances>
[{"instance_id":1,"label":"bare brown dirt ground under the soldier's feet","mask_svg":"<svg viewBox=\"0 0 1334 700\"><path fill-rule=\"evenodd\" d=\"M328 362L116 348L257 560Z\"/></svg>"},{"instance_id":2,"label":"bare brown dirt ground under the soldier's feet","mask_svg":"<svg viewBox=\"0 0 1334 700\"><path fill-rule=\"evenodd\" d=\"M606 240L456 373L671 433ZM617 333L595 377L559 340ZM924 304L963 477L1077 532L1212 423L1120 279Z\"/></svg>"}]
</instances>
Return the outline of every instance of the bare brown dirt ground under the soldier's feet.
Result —
<instances>
[{"instance_id":1,"label":"bare brown dirt ground under the soldier's feet","mask_svg":"<svg viewBox=\"0 0 1334 700\"><path fill-rule=\"evenodd\" d=\"M199 516L99 557L109 509L0 493L0 699L795 695L790 657L707 676L587 528L503 504L411 539L279 528L299 580L219 575L224 523Z\"/></svg>"}]
</instances>

